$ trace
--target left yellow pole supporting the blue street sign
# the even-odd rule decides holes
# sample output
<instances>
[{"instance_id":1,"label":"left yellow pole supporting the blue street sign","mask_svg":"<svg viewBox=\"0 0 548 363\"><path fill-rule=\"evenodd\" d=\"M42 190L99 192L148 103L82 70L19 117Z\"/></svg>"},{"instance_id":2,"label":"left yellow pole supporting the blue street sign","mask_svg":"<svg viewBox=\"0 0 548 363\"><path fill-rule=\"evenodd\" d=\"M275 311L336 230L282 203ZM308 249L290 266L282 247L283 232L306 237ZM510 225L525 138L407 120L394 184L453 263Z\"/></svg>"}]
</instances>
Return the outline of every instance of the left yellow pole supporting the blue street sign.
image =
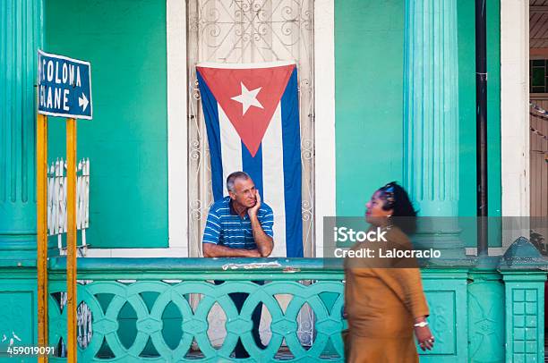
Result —
<instances>
[{"instance_id":1,"label":"left yellow pole supporting the blue street sign","mask_svg":"<svg viewBox=\"0 0 548 363\"><path fill-rule=\"evenodd\" d=\"M37 270L39 346L47 346L47 116L38 115L36 128ZM40 356L39 362L47 362Z\"/></svg>"}]
</instances>

